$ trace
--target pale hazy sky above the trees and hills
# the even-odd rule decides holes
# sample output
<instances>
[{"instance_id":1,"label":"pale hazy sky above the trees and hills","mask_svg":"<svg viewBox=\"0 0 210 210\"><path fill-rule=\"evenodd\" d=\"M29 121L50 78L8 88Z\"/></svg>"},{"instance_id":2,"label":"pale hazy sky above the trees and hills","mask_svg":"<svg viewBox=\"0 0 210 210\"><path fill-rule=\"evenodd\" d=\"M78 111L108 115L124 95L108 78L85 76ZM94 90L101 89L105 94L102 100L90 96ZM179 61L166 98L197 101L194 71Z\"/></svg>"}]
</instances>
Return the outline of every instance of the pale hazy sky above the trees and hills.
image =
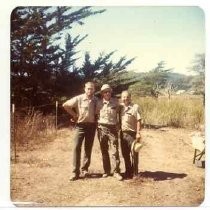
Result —
<instances>
[{"instance_id":1,"label":"pale hazy sky above the trees and hills","mask_svg":"<svg viewBox=\"0 0 210 210\"><path fill-rule=\"evenodd\" d=\"M189 71L195 54L205 53L205 14L199 6L109 6L93 7L106 12L88 17L75 25L73 36L88 34L78 46L79 56L88 51L96 59L101 52L116 50L136 59L128 70L147 72L165 61L173 72ZM83 59L77 64L80 65Z\"/></svg>"}]
</instances>

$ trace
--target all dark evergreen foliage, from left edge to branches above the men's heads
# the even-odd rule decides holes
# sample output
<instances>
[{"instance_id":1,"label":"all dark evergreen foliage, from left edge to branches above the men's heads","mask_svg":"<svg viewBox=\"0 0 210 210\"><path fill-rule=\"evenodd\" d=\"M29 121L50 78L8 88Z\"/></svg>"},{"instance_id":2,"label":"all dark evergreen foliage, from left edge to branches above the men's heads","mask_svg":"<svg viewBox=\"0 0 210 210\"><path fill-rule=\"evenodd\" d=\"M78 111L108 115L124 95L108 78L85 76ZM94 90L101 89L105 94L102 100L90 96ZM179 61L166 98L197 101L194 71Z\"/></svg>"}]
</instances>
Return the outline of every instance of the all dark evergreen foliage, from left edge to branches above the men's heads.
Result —
<instances>
[{"instance_id":1,"label":"all dark evergreen foliage, from left edge to branches above the men's heads","mask_svg":"<svg viewBox=\"0 0 210 210\"><path fill-rule=\"evenodd\" d=\"M84 82L120 84L119 74L133 61L121 57L112 61L113 52L91 61L84 55L76 65L77 46L88 35L73 37L76 24L105 10L92 7L17 7L11 14L11 92L19 106L46 104L63 96L73 96ZM59 40L65 36L65 46ZM81 58L80 58L81 59Z\"/></svg>"}]
</instances>

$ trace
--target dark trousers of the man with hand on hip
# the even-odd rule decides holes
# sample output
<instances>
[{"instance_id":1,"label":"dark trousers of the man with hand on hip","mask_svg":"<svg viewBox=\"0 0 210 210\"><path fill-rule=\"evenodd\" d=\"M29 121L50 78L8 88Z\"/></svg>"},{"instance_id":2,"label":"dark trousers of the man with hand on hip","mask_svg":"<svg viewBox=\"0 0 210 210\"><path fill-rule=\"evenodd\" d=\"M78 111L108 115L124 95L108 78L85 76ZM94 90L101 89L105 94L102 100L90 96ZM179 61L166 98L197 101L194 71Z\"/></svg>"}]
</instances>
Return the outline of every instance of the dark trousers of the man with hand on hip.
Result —
<instances>
[{"instance_id":1,"label":"dark trousers of the man with hand on hip","mask_svg":"<svg viewBox=\"0 0 210 210\"><path fill-rule=\"evenodd\" d=\"M73 173L80 173L81 148L84 142L84 157L81 169L88 170L91 161L91 152L93 141L95 137L96 124L95 123L80 123L76 126L76 133L74 137L73 148Z\"/></svg>"}]
</instances>

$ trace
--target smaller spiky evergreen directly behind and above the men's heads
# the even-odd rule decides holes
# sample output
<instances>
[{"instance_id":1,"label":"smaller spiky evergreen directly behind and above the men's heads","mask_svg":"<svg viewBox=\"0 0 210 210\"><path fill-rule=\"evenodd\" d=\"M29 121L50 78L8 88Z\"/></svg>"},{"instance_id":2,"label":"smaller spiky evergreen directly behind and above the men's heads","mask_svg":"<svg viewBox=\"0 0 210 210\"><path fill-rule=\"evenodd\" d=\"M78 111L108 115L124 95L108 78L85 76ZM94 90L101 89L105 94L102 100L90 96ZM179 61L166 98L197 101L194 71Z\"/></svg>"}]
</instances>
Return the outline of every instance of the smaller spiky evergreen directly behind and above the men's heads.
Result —
<instances>
[{"instance_id":1,"label":"smaller spiky evergreen directly behind and above the men's heads","mask_svg":"<svg viewBox=\"0 0 210 210\"><path fill-rule=\"evenodd\" d=\"M133 83L132 77L125 77L127 66L135 59L127 59L125 56L118 61L113 62L112 56L115 51L105 54L101 53L99 57L92 61L90 54L85 54L85 59L79 72L83 81L93 80L96 82L96 89L102 84L108 83L112 86L115 93L118 94L123 89L127 89Z\"/></svg>"}]
</instances>

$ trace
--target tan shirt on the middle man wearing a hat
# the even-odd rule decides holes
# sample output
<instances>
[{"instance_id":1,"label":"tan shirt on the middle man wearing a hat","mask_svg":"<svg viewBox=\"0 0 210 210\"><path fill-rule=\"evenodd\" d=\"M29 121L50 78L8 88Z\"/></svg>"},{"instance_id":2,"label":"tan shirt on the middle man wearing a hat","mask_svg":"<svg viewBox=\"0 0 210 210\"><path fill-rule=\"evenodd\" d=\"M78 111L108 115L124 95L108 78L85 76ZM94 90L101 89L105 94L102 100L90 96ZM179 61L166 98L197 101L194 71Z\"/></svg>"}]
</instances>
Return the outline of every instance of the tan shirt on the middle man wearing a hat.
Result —
<instances>
[{"instance_id":1,"label":"tan shirt on the middle man wearing a hat","mask_svg":"<svg viewBox=\"0 0 210 210\"><path fill-rule=\"evenodd\" d=\"M116 125L118 123L119 102L115 98L109 101L101 99L96 106L99 124Z\"/></svg>"}]
</instances>

